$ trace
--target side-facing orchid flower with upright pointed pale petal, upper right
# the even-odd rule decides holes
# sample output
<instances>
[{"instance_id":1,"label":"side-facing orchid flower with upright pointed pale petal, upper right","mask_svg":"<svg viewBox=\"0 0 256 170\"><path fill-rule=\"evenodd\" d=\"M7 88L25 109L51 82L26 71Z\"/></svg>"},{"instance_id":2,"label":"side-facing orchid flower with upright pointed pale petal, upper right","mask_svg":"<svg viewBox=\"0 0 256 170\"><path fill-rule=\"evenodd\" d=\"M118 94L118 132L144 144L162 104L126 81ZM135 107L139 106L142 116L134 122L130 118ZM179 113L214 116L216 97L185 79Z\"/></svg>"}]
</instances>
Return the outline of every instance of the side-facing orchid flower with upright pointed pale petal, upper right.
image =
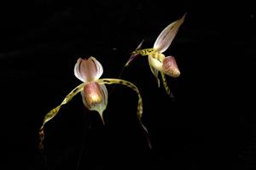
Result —
<instances>
[{"instance_id":1,"label":"side-facing orchid flower with upright pointed pale petal, upper right","mask_svg":"<svg viewBox=\"0 0 256 170\"><path fill-rule=\"evenodd\" d=\"M186 14L180 20L176 20L172 22L169 26L160 32L160 35L154 42L153 48L145 48L141 49L143 41L137 46L136 50L131 53L130 59L128 59L125 66L128 66L137 55L148 55L148 64L150 66L150 70L156 77L158 82L158 87L160 87L160 80L158 78L158 74L160 72L164 87L166 88L166 93L172 96L171 90L167 85L165 75L170 77L179 77L180 71L178 70L176 60L173 56L165 56L163 54L167 48L172 43L172 40L177 34L179 27L183 24L184 18Z\"/></svg>"}]
</instances>

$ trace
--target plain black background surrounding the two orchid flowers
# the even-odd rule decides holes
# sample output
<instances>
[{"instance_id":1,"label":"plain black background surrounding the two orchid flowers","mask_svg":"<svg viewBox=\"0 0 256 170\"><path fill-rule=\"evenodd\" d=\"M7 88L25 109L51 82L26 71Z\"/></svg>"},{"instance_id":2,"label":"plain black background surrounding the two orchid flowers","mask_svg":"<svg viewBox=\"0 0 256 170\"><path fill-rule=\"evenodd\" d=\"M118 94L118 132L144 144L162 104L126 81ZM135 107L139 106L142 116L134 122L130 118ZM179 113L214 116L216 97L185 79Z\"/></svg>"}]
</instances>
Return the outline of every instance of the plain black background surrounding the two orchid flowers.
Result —
<instances>
[{"instance_id":1,"label":"plain black background surrounding the two orchid flowers","mask_svg":"<svg viewBox=\"0 0 256 170\"><path fill-rule=\"evenodd\" d=\"M34 0L0 7L5 169L255 168L253 3ZM141 91L153 150L137 122L137 95L118 85L108 96L105 127L77 95L47 123L40 154L38 129L80 83L73 75L79 57L96 57L102 77L116 78L142 39L143 48L152 47L184 13L165 52L181 71L167 77L175 102L157 88L146 58L122 76Z\"/></svg>"}]
</instances>

